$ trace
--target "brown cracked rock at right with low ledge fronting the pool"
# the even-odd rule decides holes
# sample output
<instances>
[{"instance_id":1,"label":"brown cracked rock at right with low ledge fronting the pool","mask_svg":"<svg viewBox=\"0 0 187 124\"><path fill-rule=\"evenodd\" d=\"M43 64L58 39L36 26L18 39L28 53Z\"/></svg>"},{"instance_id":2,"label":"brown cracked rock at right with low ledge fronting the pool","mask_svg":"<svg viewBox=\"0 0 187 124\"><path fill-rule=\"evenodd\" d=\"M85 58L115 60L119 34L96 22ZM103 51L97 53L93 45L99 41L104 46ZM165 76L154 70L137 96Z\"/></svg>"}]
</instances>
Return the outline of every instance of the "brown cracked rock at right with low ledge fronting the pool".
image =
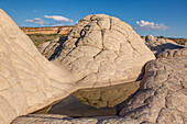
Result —
<instances>
[{"instance_id":1,"label":"brown cracked rock at right with low ledge fronting the pool","mask_svg":"<svg viewBox=\"0 0 187 124\"><path fill-rule=\"evenodd\" d=\"M123 104L121 117L47 117L28 115L13 124L89 123L89 124L186 124L187 123L187 57L166 57L146 65L140 91ZM48 115L50 116L50 115ZM53 116L53 115L52 115Z\"/></svg>"}]
</instances>

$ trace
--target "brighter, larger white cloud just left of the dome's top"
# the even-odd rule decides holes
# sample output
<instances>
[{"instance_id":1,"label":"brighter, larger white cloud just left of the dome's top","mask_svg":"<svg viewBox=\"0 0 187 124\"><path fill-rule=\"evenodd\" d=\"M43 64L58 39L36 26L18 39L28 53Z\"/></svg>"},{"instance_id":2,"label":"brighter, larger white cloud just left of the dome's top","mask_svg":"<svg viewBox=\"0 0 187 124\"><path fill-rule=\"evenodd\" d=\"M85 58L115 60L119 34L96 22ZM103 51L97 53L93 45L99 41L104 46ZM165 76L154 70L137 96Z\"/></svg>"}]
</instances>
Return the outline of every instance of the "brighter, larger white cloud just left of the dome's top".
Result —
<instances>
[{"instance_id":1,"label":"brighter, larger white cloud just left of the dome's top","mask_svg":"<svg viewBox=\"0 0 187 124\"><path fill-rule=\"evenodd\" d=\"M64 25L65 23L73 23L74 21L61 15L44 15L46 19L52 19L56 21L56 25Z\"/></svg>"}]
</instances>

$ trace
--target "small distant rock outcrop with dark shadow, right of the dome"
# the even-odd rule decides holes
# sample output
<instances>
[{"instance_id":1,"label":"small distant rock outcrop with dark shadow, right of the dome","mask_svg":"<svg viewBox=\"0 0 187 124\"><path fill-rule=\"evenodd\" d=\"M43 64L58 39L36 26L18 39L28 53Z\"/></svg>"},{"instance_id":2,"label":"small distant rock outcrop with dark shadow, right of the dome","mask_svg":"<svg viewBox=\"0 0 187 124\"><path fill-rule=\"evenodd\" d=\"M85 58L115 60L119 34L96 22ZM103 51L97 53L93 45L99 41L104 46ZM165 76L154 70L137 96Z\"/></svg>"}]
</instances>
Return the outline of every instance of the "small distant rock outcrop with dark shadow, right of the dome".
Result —
<instances>
[{"instance_id":1,"label":"small distant rock outcrop with dark shadow, right of the dome","mask_svg":"<svg viewBox=\"0 0 187 124\"><path fill-rule=\"evenodd\" d=\"M172 40L157 38L152 35L145 36L144 41L145 45L155 54L155 56L166 49L184 48L184 46L176 44Z\"/></svg>"}]
</instances>

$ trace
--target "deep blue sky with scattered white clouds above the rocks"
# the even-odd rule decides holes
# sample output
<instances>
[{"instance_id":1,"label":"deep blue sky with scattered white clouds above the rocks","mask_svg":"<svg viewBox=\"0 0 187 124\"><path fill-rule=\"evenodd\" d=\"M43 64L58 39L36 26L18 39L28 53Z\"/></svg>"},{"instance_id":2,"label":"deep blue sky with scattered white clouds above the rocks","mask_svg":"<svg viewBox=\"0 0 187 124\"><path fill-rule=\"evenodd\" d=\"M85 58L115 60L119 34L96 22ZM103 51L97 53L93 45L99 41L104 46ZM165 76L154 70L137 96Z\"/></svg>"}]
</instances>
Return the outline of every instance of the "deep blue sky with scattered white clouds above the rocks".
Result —
<instances>
[{"instance_id":1,"label":"deep blue sky with scattered white clouds above the rocks","mask_svg":"<svg viewBox=\"0 0 187 124\"><path fill-rule=\"evenodd\" d=\"M0 0L0 8L19 26L75 24L88 14L105 13L140 35L187 37L187 0Z\"/></svg>"}]
</instances>

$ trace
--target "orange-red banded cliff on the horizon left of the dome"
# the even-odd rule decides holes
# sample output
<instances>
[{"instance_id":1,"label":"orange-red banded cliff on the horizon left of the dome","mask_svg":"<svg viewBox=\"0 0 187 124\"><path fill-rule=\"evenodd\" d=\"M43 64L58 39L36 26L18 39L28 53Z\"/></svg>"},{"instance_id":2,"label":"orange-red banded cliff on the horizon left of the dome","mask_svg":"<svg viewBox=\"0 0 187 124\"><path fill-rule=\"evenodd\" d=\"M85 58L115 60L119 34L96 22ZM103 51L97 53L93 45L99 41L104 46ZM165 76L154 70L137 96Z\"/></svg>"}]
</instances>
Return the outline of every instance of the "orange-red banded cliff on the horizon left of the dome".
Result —
<instances>
[{"instance_id":1,"label":"orange-red banded cliff on the horizon left of the dome","mask_svg":"<svg viewBox=\"0 0 187 124\"><path fill-rule=\"evenodd\" d=\"M67 34L72 26L20 27L25 34Z\"/></svg>"}]
</instances>

